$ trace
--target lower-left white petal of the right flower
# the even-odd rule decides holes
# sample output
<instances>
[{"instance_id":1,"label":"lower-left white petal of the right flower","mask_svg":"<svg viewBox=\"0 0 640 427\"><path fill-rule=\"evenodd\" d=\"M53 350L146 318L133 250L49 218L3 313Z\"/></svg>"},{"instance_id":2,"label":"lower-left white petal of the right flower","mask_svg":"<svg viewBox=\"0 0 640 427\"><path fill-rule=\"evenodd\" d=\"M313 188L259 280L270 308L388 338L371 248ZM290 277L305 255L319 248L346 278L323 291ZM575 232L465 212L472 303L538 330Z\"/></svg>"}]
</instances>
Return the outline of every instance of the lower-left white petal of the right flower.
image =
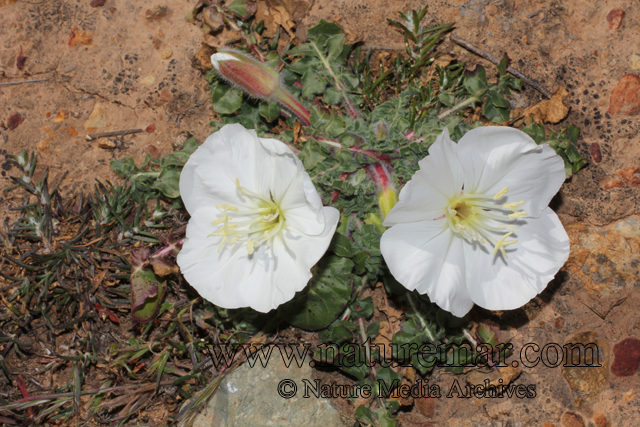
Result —
<instances>
[{"instance_id":1,"label":"lower-left white petal of the right flower","mask_svg":"<svg viewBox=\"0 0 640 427\"><path fill-rule=\"evenodd\" d=\"M462 246L463 240L444 219L394 225L380 241L382 256L398 282L410 291L426 293L458 317L473 307Z\"/></svg>"}]
</instances>

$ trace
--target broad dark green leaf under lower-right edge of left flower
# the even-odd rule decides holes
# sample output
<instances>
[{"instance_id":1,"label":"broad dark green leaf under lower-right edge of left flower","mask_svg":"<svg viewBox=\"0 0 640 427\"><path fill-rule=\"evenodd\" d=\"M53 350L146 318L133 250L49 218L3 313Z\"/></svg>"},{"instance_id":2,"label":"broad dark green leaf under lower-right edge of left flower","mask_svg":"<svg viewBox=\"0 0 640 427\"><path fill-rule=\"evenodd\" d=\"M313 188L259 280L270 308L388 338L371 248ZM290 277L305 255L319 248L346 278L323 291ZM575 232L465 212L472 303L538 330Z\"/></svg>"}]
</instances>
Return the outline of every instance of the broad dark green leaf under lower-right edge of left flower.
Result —
<instances>
[{"instance_id":1,"label":"broad dark green leaf under lower-right edge of left flower","mask_svg":"<svg viewBox=\"0 0 640 427\"><path fill-rule=\"evenodd\" d=\"M313 278L291 301L278 308L278 314L293 326L318 331L326 328L344 310L353 283L353 262L329 255L313 269Z\"/></svg>"}]
</instances>

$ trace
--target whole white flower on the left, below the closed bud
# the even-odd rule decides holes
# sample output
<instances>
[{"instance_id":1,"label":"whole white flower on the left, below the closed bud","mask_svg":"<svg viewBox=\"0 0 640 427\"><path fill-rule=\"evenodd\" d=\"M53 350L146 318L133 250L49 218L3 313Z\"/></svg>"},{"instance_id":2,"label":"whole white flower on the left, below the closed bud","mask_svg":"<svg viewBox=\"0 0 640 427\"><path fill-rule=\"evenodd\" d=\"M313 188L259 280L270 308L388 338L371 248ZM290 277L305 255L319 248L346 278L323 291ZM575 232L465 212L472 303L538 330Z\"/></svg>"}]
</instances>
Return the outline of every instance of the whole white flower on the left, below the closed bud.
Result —
<instances>
[{"instance_id":1,"label":"whole white flower on the left, below the closed bud","mask_svg":"<svg viewBox=\"0 0 640 427\"><path fill-rule=\"evenodd\" d=\"M191 219L178 264L202 297L224 308L267 312L293 298L339 219L289 147L238 124L191 155L180 194Z\"/></svg>"}]
</instances>

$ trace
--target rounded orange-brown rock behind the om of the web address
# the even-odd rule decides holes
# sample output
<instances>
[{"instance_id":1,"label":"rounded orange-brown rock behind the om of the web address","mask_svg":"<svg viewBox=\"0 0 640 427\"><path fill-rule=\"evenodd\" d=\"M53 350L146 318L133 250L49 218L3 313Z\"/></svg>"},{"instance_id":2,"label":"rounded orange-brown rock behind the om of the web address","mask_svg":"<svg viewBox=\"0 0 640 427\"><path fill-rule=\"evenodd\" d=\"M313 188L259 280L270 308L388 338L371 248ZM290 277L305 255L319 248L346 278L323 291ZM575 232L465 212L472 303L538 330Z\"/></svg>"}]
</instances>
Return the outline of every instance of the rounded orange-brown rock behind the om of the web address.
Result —
<instances>
[{"instance_id":1,"label":"rounded orange-brown rock behind the om of the web address","mask_svg":"<svg viewBox=\"0 0 640 427\"><path fill-rule=\"evenodd\" d=\"M575 395L580 396L579 402L593 402L609 377L609 345L599 339L595 332L574 335L567 340L565 345L567 344L571 345L568 346L566 360L562 363L562 376ZM565 425L564 416L562 419Z\"/></svg>"}]
</instances>

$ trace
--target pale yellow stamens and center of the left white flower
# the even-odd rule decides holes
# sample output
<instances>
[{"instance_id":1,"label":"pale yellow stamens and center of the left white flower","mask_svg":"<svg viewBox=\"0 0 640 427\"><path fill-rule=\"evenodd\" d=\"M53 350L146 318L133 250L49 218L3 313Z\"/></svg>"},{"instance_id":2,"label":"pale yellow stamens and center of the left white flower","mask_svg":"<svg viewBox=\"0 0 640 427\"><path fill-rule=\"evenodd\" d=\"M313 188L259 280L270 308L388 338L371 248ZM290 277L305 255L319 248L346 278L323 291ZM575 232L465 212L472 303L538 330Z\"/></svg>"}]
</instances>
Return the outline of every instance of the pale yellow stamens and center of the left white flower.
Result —
<instances>
[{"instance_id":1,"label":"pale yellow stamens and center of the left white flower","mask_svg":"<svg viewBox=\"0 0 640 427\"><path fill-rule=\"evenodd\" d=\"M211 225L221 226L207 237L222 236L218 252L225 243L233 246L240 242L247 244L247 251L251 255L254 248L270 241L280 232L284 225L284 216L272 196L267 198L247 190L240 185L237 178L236 187L240 194L252 202L253 207L239 209L226 203L217 205L216 208L222 212L222 217L213 221Z\"/></svg>"}]
</instances>

